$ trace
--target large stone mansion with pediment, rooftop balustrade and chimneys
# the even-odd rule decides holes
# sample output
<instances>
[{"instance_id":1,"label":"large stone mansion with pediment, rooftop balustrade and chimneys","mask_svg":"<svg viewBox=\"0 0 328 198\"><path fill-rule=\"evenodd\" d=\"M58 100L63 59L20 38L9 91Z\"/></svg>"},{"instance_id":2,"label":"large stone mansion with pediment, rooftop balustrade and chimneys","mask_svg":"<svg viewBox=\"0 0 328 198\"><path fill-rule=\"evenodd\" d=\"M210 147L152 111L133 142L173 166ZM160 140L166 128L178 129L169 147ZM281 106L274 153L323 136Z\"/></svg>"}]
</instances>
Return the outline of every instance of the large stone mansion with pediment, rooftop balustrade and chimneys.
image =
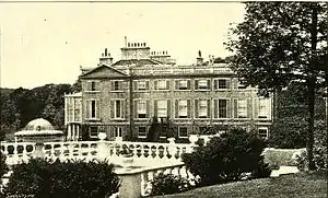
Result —
<instances>
[{"instance_id":1,"label":"large stone mansion with pediment, rooftop balustrade and chimneys","mask_svg":"<svg viewBox=\"0 0 328 198\"><path fill-rule=\"evenodd\" d=\"M267 137L271 125L271 98L241 85L226 63L203 62L200 53L195 65L177 66L167 51L126 42L121 60L113 63L105 50L98 67L80 79L78 139L82 133L97 138L98 132L108 139L145 139L154 119L169 123L180 140L232 127L254 128Z\"/></svg>"}]
</instances>

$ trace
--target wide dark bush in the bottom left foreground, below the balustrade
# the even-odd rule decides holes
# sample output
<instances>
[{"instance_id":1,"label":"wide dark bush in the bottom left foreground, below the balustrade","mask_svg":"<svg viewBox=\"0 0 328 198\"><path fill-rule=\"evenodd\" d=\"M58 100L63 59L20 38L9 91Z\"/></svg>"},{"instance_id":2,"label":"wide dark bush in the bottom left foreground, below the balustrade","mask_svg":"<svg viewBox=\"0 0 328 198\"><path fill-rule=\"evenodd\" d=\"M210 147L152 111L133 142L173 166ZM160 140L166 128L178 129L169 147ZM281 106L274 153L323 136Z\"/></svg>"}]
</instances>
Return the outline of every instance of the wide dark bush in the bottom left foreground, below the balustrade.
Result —
<instances>
[{"instance_id":1,"label":"wide dark bush in the bottom left foreground, below the balustrade","mask_svg":"<svg viewBox=\"0 0 328 198\"><path fill-rule=\"evenodd\" d=\"M17 164L4 188L7 196L98 198L118 191L113 164L104 162L49 162L31 159Z\"/></svg>"}]
</instances>

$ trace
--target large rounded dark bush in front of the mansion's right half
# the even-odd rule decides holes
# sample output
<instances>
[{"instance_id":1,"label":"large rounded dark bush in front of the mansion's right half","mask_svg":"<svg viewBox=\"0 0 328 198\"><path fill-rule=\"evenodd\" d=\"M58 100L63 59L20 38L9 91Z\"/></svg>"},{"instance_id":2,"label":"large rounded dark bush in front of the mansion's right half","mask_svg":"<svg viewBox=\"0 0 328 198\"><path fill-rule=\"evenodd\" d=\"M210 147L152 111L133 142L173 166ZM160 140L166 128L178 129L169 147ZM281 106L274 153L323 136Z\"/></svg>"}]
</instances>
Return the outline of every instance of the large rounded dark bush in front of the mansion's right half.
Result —
<instances>
[{"instance_id":1,"label":"large rounded dark bush in front of the mansion's right half","mask_svg":"<svg viewBox=\"0 0 328 198\"><path fill-rule=\"evenodd\" d=\"M245 173L253 177L269 176L271 171L261 155L263 141L253 132L232 129L183 155L187 168L200 177L199 185L239 180Z\"/></svg>"}]
</instances>

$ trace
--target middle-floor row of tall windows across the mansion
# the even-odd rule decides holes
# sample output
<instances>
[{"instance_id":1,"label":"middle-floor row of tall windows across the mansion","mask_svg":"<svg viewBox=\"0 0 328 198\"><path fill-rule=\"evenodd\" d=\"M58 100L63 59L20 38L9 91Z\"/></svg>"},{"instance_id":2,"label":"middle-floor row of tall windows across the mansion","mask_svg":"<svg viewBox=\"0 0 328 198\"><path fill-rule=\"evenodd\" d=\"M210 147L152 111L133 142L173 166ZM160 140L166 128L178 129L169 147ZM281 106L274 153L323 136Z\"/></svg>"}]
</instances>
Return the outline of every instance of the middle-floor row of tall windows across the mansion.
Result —
<instances>
[{"instance_id":1,"label":"middle-floor row of tall windows across the mansion","mask_svg":"<svg viewBox=\"0 0 328 198\"><path fill-rule=\"evenodd\" d=\"M136 100L134 101L134 118L150 118L150 100ZM210 118L211 107L213 107L214 118L247 118L250 117L250 100L194 100L194 108L191 107L191 100L175 100L174 106L171 104L171 100L154 100L153 113L156 117L173 117L171 116L171 108L174 107L175 118L191 118L191 109L194 109L195 118ZM213 105L211 105L213 103ZM233 104L232 104L233 103ZM110 118L125 118L126 109L125 100L110 101ZM90 101L89 118L98 118L97 101ZM259 118L270 117L270 100L259 98L258 108L254 108L257 112Z\"/></svg>"}]
</instances>

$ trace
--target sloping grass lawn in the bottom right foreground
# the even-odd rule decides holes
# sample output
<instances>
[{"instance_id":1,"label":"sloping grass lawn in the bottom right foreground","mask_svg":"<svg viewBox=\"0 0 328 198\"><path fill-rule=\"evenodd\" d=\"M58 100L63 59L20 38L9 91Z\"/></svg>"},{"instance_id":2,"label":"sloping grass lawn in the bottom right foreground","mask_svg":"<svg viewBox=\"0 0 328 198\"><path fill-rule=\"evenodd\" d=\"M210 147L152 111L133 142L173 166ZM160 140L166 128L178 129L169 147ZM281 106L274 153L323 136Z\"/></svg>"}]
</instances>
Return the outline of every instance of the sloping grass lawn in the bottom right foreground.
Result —
<instances>
[{"instance_id":1,"label":"sloping grass lawn in the bottom right foreground","mask_svg":"<svg viewBox=\"0 0 328 198\"><path fill-rule=\"evenodd\" d=\"M157 198L327 198L327 175L298 173L277 178L260 178L192 189Z\"/></svg>"}]
</instances>

